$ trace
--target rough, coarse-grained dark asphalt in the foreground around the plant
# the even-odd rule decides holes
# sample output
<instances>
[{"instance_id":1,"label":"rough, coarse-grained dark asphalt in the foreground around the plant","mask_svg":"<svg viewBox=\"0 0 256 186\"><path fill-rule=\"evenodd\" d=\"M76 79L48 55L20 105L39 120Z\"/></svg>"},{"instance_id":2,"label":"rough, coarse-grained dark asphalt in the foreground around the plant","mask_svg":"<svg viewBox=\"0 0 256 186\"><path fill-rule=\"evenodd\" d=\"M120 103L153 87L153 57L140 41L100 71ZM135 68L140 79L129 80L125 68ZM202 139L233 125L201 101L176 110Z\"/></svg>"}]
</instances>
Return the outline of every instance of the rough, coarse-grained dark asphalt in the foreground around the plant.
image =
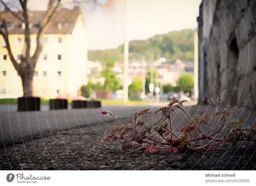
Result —
<instances>
[{"instance_id":1,"label":"rough, coarse-grained dark asphalt in the foreground around the plant","mask_svg":"<svg viewBox=\"0 0 256 186\"><path fill-rule=\"evenodd\" d=\"M188 108L186 108L188 109ZM151 115L154 113L151 112ZM175 132L185 123L176 113ZM103 118L102 118L103 119ZM105 117L105 119L108 119ZM105 120L104 119L104 120ZM129 118L119 119L125 124ZM114 120L54 132L38 138L0 148L1 170L253 170L256 162L254 142L230 143L207 153L145 153L139 145L122 151L120 141L98 144L99 139L116 127Z\"/></svg>"}]
</instances>

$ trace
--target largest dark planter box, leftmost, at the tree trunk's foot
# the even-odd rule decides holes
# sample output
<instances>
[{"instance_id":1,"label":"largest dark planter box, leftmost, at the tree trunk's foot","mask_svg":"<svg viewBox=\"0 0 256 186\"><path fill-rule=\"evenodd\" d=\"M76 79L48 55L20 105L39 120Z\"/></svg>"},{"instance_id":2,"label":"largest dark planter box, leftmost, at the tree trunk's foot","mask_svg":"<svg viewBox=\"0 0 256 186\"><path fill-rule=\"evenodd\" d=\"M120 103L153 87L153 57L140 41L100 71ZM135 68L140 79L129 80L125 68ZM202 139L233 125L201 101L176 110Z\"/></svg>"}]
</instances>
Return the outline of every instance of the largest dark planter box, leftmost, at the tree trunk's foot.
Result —
<instances>
[{"instance_id":1,"label":"largest dark planter box, leftmost, at the tree trunk's foot","mask_svg":"<svg viewBox=\"0 0 256 186\"><path fill-rule=\"evenodd\" d=\"M19 111L40 111L39 97L18 97Z\"/></svg>"}]
</instances>

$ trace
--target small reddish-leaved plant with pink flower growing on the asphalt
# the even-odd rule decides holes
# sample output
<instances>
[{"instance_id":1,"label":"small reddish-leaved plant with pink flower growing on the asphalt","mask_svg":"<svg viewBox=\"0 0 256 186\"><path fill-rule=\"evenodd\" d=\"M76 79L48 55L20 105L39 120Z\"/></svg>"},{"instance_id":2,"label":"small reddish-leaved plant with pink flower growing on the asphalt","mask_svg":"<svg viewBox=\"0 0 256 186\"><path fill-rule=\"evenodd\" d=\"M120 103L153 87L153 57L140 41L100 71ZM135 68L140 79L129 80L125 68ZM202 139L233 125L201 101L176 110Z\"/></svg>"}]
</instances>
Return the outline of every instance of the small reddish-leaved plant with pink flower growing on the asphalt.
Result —
<instances>
[{"instance_id":1,"label":"small reddish-leaved plant with pink flower growing on the asphalt","mask_svg":"<svg viewBox=\"0 0 256 186\"><path fill-rule=\"evenodd\" d=\"M131 120L129 120L129 124L125 126L116 120L111 112L101 112L100 109L100 116L102 114L109 114L116 120L119 126L100 139L99 143L120 140L122 141L121 144L124 151L132 148L132 145L137 143L146 148L145 152L179 153L187 150L215 150L218 149L215 145L226 142L236 145L237 141L254 141L256 129L253 126L256 119L250 128L241 127L244 123L243 118L234 119L234 111L241 110L242 105L233 106L229 104L224 110L218 111L220 96L216 101L208 96L206 96L206 99L209 99L210 104L216 106L215 112L205 114L205 111L203 111L192 119L182 108L185 101L174 100L167 106L158 109L155 112L155 117L147 124L145 124L143 119L147 117L150 109L135 113ZM180 130L179 134L175 134L172 130L171 113L176 109L184 112L189 119L189 123ZM157 118L159 115L160 118ZM202 125L207 125L207 128L210 129L204 131L200 129ZM213 132L217 126L219 126L218 130ZM222 139L218 138L224 128L227 128L227 133ZM196 143L199 140L204 140L204 144Z\"/></svg>"}]
</instances>

